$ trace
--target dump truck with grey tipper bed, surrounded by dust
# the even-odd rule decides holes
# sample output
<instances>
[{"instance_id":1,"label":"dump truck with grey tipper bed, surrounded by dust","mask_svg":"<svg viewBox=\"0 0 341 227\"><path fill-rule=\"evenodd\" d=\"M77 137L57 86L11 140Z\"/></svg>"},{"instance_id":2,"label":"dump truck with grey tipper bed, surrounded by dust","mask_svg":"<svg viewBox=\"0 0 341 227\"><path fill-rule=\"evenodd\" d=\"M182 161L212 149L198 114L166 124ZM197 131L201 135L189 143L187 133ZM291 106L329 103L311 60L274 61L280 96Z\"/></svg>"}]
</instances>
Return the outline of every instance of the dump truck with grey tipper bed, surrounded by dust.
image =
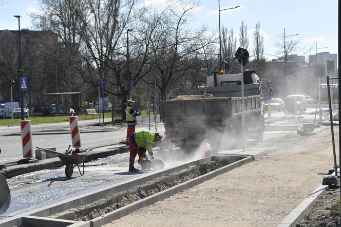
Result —
<instances>
[{"instance_id":1,"label":"dump truck with grey tipper bed, surrounded by dust","mask_svg":"<svg viewBox=\"0 0 341 227\"><path fill-rule=\"evenodd\" d=\"M263 140L264 109L261 81L254 70L243 73L245 139ZM271 82L267 83L271 94ZM160 102L165 136L176 146L194 149L203 142L242 144L241 73L207 77L202 94ZM234 140L234 142L232 142ZM228 146L226 146L228 147Z\"/></svg>"}]
</instances>

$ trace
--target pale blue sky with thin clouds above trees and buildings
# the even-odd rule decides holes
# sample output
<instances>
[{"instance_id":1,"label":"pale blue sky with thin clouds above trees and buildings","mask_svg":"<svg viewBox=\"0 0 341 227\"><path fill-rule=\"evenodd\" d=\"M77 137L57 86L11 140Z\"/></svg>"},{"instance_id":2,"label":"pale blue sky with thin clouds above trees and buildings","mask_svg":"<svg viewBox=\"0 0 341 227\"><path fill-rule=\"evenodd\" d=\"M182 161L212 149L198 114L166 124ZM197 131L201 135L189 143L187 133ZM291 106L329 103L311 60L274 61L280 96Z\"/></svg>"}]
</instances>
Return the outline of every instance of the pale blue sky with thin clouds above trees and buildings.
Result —
<instances>
[{"instance_id":1,"label":"pale blue sky with thin clouds above trees and buildings","mask_svg":"<svg viewBox=\"0 0 341 227\"><path fill-rule=\"evenodd\" d=\"M144 0L147 5L164 6L166 0ZM172 0L168 0L168 2ZM37 11L37 0L3 0L0 5L0 29L17 30L20 15L21 28L34 29L29 16ZM220 11L220 23L239 34L241 22L248 26L249 52L252 52L253 30L260 23L264 37L264 53L268 61L279 57L276 42L281 40L284 29L286 39L300 39L300 51L292 54L302 55L329 51L337 53L337 0L220 0L220 9L240 6L236 9ZM193 27L206 25L211 31L219 33L218 0L201 0L193 12ZM237 46L239 45L237 41ZM326 48L324 48L326 47Z\"/></svg>"}]
</instances>

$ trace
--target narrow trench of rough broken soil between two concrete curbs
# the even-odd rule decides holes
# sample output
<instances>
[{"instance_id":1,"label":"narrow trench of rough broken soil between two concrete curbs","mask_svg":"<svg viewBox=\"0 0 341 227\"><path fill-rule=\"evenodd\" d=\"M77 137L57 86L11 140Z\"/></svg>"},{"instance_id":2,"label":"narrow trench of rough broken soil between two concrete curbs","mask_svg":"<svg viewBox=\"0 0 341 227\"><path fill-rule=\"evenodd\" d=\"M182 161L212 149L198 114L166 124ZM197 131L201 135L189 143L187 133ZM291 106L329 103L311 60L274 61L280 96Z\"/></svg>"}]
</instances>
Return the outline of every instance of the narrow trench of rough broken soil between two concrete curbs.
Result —
<instances>
[{"instance_id":1,"label":"narrow trench of rough broken soil between two concrete curbs","mask_svg":"<svg viewBox=\"0 0 341 227\"><path fill-rule=\"evenodd\" d=\"M166 176L148 181L144 184L129 188L129 190L111 194L86 205L53 214L49 216L49 218L88 221L111 211L115 211L120 207L130 203L164 191L167 188L200 177L206 173L210 173L215 169L221 168L228 164L230 164L230 160L215 160L205 162L200 165L187 167L186 169L183 169L179 172L168 174Z\"/></svg>"}]
</instances>

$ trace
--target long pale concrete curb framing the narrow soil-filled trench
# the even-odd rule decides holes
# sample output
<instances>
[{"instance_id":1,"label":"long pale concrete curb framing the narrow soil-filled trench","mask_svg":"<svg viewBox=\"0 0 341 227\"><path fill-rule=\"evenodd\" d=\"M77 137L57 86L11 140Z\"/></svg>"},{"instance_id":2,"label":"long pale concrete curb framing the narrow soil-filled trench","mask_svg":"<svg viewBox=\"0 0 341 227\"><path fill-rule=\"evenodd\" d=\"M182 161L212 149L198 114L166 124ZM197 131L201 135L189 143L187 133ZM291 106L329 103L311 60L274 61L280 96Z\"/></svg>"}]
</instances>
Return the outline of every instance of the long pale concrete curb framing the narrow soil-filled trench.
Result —
<instances>
[{"instance_id":1,"label":"long pale concrete curb framing the narrow soil-filled trench","mask_svg":"<svg viewBox=\"0 0 341 227\"><path fill-rule=\"evenodd\" d=\"M183 165L176 166L176 167L171 167L167 169L163 169L162 171L158 171L156 173L150 173L144 177L139 177L127 181L123 181L120 183L112 184L109 186L106 186L105 188L101 188L100 190L97 191L92 191L89 193L86 193L85 195L80 195L80 196L75 196L60 202L56 202L51 205L47 205L44 207L41 207L39 209L33 210L27 214L24 215L16 215L14 217L10 217L7 219L0 220L0 226L4 227L9 227L9 226L21 226L22 224L26 224L26 221L29 221L32 226L42 226L42 225L36 225L37 223L42 223L45 219L48 221L51 225L49 226L66 226L66 225L53 225L53 223L57 224L63 224L63 223L68 223L71 225L67 226L101 226L103 224L109 223L112 220L121 218L132 211L136 211L140 209L143 206L155 203L157 201L163 200L165 198L168 198L169 196L172 196L180 191L186 190L188 188L191 188L195 185L198 185L206 180L210 180L220 174L226 173L230 171L233 168L239 167L243 164L252 162L252 157L247 157L247 156L234 156L234 155L229 155L230 158L235 159L233 163L226 165L222 168L216 169L215 171L212 171L211 173L204 174L198 178L194 178L192 180L183 182L179 185L176 185L174 187L168 188L167 190L164 190L162 192L159 192L155 195L149 196L147 198L141 199L139 201L136 201L134 203L131 203L129 205L126 205L124 207L121 207L120 209L117 209L115 211L109 212L101 217L94 218L90 221L80 221L80 222L75 222L72 223L69 220L63 220L63 219L54 219L54 218L48 218L46 216L50 216L52 214L65 211L67 209L70 209L72 207L78 207L93 201L97 201L98 199L101 199L107 195L114 194L117 192L122 192L127 190L128 188L140 185L142 183L145 183L149 180L165 176L167 174L171 174L177 171L180 171L181 169L185 169L189 166L192 165L198 165L202 164L206 161L210 160L219 160L224 157L228 157L226 155L223 156L210 156L210 157L204 157L200 158L195 161L189 161ZM46 222L44 222L46 223Z\"/></svg>"}]
</instances>

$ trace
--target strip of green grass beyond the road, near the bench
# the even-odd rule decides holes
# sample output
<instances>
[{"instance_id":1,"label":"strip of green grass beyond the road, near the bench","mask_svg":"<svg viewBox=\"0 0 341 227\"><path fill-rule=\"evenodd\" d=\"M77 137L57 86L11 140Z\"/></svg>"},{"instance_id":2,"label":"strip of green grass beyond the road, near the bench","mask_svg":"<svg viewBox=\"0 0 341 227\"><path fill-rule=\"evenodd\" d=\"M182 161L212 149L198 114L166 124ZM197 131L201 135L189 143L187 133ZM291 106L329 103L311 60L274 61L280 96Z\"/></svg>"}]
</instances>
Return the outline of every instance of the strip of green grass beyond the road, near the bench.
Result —
<instances>
[{"instance_id":1,"label":"strip of green grass beyond the road, near the bench","mask_svg":"<svg viewBox=\"0 0 341 227\"><path fill-rule=\"evenodd\" d=\"M83 121L83 120L88 120L92 119L92 116L87 116L87 119L85 119L86 115L78 115L78 120ZM111 118L111 113L106 112L104 114L105 118ZM115 118L120 118L119 115L114 114ZM99 119L99 115L94 115L95 119ZM101 119L103 117L101 116ZM30 120L31 124L46 124L46 123L61 123L61 122L68 122L69 121L69 116L47 116L47 117L30 117L27 118L26 120ZM14 118L13 119L13 125L20 125L20 118ZM101 121L102 122L102 121ZM1 119L0 120L0 126L10 126L11 125L11 119Z\"/></svg>"}]
</instances>

